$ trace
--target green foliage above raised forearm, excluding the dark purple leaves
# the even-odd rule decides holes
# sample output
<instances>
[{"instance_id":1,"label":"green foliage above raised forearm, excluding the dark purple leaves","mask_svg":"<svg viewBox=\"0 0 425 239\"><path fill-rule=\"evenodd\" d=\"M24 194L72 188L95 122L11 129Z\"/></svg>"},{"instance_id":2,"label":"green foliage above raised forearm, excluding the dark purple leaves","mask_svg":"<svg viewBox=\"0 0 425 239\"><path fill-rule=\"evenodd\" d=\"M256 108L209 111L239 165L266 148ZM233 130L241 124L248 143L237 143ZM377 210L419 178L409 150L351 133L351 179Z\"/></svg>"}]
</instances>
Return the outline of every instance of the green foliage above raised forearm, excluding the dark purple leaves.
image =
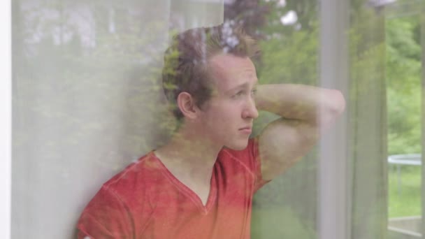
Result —
<instances>
[{"instance_id":1,"label":"green foliage above raised forearm, excluding the dark purple leaves","mask_svg":"<svg viewBox=\"0 0 425 239\"><path fill-rule=\"evenodd\" d=\"M268 24L259 29L266 38L259 42L261 63L257 72L261 84L317 83L318 29L315 1L287 1L282 8L278 1L263 2L268 6ZM283 25L280 17L296 10L297 25Z\"/></svg>"}]
</instances>

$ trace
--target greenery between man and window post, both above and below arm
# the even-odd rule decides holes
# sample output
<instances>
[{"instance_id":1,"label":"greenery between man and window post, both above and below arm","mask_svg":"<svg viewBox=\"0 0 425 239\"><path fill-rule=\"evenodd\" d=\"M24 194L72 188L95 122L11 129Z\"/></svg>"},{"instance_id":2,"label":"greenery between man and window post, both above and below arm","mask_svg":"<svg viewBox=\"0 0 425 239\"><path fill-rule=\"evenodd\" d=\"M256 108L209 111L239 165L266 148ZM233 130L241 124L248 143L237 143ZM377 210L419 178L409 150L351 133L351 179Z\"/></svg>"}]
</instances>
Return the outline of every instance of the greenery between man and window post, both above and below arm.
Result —
<instances>
[{"instance_id":1,"label":"greenery between man and window post, both above and below arm","mask_svg":"<svg viewBox=\"0 0 425 239\"><path fill-rule=\"evenodd\" d=\"M261 60L257 62L260 84L293 83L317 85L319 27L315 1L262 2L268 6L268 24L259 28ZM283 25L280 17L296 10L298 27ZM303 11L304 10L304 11ZM274 119L273 113L260 112L254 132ZM279 178L266 184L254 198L252 238L316 238L317 150L303 157Z\"/></svg>"}]
</instances>

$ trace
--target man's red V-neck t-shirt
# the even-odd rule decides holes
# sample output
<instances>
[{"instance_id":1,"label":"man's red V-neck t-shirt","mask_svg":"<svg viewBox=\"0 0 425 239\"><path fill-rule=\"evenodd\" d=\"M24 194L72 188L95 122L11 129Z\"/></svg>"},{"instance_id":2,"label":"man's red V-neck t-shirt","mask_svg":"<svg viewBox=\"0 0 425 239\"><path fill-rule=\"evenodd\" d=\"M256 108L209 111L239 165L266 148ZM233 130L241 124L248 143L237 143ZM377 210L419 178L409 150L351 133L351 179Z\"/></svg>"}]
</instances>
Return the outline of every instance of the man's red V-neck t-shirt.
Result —
<instances>
[{"instance_id":1,"label":"man's red V-neck t-shirt","mask_svg":"<svg viewBox=\"0 0 425 239\"><path fill-rule=\"evenodd\" d=\"M78 238L250 238L252 196L266 183L258 155L257 139L221 150L204 206L150 152L103 184L82 212Z\"/></svg>"}]
</instances>

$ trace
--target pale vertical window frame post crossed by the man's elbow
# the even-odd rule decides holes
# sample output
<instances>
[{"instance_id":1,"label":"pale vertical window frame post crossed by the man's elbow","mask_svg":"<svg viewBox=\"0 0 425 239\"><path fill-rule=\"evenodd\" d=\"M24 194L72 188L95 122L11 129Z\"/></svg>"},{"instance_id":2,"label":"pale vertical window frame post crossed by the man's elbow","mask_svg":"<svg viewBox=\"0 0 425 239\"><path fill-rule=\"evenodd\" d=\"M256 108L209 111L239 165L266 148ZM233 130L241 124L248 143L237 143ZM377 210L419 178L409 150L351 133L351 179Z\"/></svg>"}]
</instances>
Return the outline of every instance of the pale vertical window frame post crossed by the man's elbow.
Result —
<instances>
[{"instance_id":1,"label":"pale vertical window frame post crossed by the man's elbow","mask_svg":"<svg viewBox=\"0 0 425 239\"><path fill-rule=\"evenodd\" d=\"M319 1L320 86L339 89L347 96L349 0ZM351 196L347 185L347 113L333 129L322 133L317 188L317 229L321 239L351 238ZM336 150L338 149L338 150Z\"/></svg>"}]
</instances>

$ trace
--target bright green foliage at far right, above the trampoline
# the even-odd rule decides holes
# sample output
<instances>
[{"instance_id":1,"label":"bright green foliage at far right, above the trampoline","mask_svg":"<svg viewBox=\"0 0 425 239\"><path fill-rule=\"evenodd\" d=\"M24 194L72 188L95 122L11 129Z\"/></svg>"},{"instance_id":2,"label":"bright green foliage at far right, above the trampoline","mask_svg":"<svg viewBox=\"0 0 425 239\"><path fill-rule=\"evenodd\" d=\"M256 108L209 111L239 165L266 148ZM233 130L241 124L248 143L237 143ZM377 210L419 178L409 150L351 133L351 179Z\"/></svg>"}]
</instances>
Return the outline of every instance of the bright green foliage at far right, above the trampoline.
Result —
<instances>
[{"instance_id":1,"label":"bright green foliage at far right, above the trampoline","mask_svg":"<svg viewBox=\"0 0 425 239\"><path fill-rule=\"evenodd\" d=\"M419 17L387 20L388 152L421 152Z\"/></svg>"}]
</instances>

